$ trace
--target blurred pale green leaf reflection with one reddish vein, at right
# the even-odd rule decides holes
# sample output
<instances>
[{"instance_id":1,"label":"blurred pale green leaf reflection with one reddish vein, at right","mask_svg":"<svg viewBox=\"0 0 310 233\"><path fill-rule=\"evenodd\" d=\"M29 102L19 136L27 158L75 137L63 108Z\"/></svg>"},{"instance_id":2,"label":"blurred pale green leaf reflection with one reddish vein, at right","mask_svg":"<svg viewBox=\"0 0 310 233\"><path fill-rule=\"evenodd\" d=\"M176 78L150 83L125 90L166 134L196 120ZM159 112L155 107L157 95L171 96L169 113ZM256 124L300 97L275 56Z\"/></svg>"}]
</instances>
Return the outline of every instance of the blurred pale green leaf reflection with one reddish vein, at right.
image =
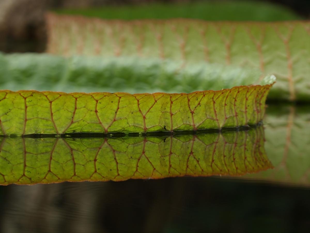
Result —
<instances>
[{"instance_id":1,"label":"blurred pale green leaf reflection with one reddish vein, at right","mask_svg":"<svg viewBox=\"0 0 310 233\"><path fill-rule=\"evenodd\" d=\"M275 168L248 177L309 185L309 107L269 106L264 122L266 153Z\"/></svg>"}]
</instances>

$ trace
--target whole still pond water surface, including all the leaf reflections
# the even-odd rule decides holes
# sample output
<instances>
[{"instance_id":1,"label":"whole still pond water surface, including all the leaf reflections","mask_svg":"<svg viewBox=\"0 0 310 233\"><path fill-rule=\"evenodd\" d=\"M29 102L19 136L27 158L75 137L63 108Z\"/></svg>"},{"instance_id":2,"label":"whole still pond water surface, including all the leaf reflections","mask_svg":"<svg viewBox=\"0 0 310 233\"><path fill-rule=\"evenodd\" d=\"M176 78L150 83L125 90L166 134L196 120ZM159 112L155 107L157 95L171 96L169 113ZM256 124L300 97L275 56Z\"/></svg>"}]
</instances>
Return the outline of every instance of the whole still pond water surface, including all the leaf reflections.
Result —
<instances>
[{"instance_id":1,"label":"whole still pond water surface, including all the leaf reflections","mask_svg":"<svg viewBox=\"0 0 310 233\"><path fill-rule=\"evenodd\" d=\"M2 184L125 181L0 186L0 231L304 232L309 129L308 106L269 105L221 134L2 138Z\"/></svg>"}]
</instances>

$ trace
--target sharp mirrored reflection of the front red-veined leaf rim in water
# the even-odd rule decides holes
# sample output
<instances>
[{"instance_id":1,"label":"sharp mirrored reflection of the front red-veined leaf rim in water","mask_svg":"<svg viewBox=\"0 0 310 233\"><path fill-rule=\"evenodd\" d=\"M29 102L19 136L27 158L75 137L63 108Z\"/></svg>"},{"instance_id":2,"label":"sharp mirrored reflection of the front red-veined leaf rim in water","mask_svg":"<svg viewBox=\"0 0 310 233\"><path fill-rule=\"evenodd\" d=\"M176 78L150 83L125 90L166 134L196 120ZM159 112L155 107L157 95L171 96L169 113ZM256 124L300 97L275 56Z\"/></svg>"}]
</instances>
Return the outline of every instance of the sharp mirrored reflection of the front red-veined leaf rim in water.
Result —
<instances>
[{"instance_id":1,"label":"sharp mirrored reflection of the front red-veined leaf rim in water","mask_svg":"<svg viewBox=\"0 0 310 233\"><path fill-rule=\"evenodd\" d=\"M272 167L263 127L221 134L125 138L1 138L1 184L240 176Z\"/></svg>"}]
</instances>

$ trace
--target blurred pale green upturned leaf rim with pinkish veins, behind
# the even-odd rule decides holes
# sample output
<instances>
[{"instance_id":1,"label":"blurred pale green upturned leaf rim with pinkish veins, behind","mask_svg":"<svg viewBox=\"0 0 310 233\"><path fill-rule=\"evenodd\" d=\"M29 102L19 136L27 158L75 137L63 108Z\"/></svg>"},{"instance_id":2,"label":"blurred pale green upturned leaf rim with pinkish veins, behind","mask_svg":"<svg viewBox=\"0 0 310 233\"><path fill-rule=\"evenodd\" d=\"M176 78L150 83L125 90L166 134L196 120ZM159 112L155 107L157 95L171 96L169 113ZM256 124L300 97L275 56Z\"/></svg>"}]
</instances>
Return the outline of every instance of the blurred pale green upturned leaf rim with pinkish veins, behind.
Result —
<instances>
[{"instance_id":1,"label":"blurred pale green upturned leaf rim with pinkish veins, behind","mask_svg":"<svg viewBox=\"0 0 310 233\"><path fill-rule=\"evenodd\" d=\"M307 21L104 21L49 14L47 24L48 53L169 59L181 62L180 70L197 62L252 67L277 76L270 99L310 100Z\"/></svg>"}]
</instances>

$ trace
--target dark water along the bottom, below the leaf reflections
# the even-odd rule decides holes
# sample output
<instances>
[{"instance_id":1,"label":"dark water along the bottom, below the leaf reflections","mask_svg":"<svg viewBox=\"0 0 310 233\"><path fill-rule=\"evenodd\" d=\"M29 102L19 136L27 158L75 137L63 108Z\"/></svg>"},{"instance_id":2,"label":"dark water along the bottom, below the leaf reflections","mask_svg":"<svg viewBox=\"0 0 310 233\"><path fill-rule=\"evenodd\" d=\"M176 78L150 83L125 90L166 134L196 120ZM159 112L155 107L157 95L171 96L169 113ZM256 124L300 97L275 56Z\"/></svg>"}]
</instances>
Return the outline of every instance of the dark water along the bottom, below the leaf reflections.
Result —
<instances>
[{"instance_id":1,"label":"dark water along the bottom, below the leaf reflections","mask_svg":"<svg viewBox=\"0 0 310 233\"><path fill-rule=\"evenodd\" d=\"M308 232L310 190L225 178L1 187L1 232Z\"/></svg>"}]
</instances>

